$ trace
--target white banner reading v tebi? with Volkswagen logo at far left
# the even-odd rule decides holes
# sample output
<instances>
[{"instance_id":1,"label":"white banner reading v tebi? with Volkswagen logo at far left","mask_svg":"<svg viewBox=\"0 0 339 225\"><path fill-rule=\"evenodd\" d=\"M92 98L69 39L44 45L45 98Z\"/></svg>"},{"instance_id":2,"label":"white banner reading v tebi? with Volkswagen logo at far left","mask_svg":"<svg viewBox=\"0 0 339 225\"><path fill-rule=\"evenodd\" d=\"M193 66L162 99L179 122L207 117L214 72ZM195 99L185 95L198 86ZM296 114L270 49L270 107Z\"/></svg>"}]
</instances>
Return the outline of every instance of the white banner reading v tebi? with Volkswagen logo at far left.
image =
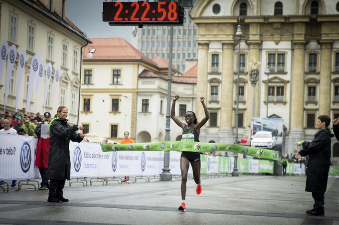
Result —
<instances>
[{"instance_id":1,"label":"white banner reading v tebi? with Volkswagen logo at far left","mask_svg":"<svg viewBox=\"0 0 339 225\"><path fill-rule=\"evenodd\" d=\"M0 179L30 179L38 177L34 166L37 139L0 134Z\"/></svg>"}]
</instances>

